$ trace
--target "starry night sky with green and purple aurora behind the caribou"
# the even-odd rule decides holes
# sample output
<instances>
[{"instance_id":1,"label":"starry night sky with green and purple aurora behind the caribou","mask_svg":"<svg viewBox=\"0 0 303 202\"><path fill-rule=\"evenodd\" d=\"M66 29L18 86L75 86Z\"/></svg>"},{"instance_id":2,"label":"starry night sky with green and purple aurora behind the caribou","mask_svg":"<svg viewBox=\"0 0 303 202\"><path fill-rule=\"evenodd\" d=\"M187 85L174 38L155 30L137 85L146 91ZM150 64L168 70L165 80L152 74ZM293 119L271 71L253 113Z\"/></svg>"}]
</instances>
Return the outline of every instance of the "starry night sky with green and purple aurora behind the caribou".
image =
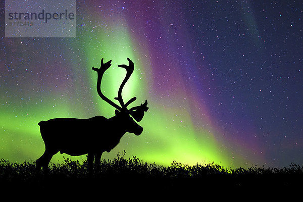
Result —
<instances>
[{"instance_id":1,"label":"starry night sky with green and purple aurora behind the caribou","mask_svg":"<svg viewBox=\"0 0 303 202\"><path fill-rule=\"evenodd\" d=\"M148 100L144 130L104 159L303 164L301 1L77 1L75 38L6 38L4 15L2 3L0 158L39 158L41 120L113 116L91 68L112 60L102 87L114 100L130 58L123 97Z\"/></svg>"}]
</instances>

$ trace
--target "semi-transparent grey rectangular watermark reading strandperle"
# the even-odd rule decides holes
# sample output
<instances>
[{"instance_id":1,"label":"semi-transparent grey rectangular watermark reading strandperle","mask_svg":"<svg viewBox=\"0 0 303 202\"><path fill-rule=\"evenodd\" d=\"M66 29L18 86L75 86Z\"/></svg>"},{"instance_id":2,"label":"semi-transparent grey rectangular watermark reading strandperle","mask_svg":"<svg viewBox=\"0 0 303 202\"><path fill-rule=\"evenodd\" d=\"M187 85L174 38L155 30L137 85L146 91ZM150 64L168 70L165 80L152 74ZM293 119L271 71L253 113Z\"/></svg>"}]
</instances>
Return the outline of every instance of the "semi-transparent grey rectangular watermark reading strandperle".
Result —
<instances>
[{"instance_id":1,"label":"semi-transparent grey rectangular watermark reading strandperle","mask_svg":"<svg viewBox=\"0 0 303 202\"><path fill-rule=\"evenodd\" d=\"M6 0L6 37L76 37L75 0Z\"/></svg>"}]
</instances>

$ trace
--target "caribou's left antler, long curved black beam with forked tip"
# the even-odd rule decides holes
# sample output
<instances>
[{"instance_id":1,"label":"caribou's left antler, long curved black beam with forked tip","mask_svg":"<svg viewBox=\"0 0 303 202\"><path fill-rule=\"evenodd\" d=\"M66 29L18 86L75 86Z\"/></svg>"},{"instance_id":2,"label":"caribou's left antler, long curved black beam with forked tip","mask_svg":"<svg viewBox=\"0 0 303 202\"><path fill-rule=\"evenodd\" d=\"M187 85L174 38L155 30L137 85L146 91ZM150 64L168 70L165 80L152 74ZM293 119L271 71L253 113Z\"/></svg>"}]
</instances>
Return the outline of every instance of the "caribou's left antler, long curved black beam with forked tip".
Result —
<instances>
[{"instance_id":1,"label":"caribou's left antler, long curved black beam with forked tip","mask_svg":"<svg viewBox=\"0 0 303 202\"><path fill-rule=\"evenodd\" d=\"M116 108L117 110L119 110L121 112L122 108L120 106L118 106L117 104L115 104L114 102L112 102L112 100L107 98L101 91L101 81L102 81L103 74L105 73L105 71L107 69L109 69L111 67L111 65L112 65L111 62L112 62L112 60L108 61L107 63L103 63L103 59L101 59L100 68L92 67L92 70L94 70L98 73L98 78L97 78L97 92L98 92L98 95L103 100L105 100L105 102L107 102L108 104L110 104L111 106L113 106L114 108Z\"/></svg>"}]
</instances>

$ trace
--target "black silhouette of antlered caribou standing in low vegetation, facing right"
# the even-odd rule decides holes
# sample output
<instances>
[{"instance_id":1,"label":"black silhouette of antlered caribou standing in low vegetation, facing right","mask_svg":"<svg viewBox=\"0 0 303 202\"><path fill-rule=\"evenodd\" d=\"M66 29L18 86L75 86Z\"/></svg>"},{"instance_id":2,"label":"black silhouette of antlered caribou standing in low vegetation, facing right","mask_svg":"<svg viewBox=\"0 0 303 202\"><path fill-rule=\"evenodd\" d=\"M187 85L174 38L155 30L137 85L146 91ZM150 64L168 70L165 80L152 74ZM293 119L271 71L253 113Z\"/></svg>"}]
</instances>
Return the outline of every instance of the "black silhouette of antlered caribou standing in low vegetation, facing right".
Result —
<instances>
[{"instance_id":1,"label":"black silhouette of antlered caribou standing in low vegetation, facing right","mask_svg":"<svg viewBox=\"0 0 303 202\"><path fill-rule=\"evenodd\" d=\"M100 68L92 67L92 70L97 72L97 93L108 104L116 108L115 116L109 119L103 116L89 119L55 118L38 123L45 151L36 161L37 170L42 168L47 172L52 157L60 151L61 154L65 153L71 156L87 154L89 173L92 174L93 167L98 169L104 151L110 152L126 132L135 135L142 133L143 128L132 117L137 122L142 120L144 112L148 110L147 100L144 104L128 110L127 107L136 100L136 97L131 98L126 103L122 98L122 89L134 71L133 62L129 58L127 60L129 61L128 66L118 65L118 67L126 69L126 76L118 90L118 97L115 97L121 106L112 102L101 91L103 74L112 65L112 60L103 63L102 59Z\"/></svg>"}]
</instances>

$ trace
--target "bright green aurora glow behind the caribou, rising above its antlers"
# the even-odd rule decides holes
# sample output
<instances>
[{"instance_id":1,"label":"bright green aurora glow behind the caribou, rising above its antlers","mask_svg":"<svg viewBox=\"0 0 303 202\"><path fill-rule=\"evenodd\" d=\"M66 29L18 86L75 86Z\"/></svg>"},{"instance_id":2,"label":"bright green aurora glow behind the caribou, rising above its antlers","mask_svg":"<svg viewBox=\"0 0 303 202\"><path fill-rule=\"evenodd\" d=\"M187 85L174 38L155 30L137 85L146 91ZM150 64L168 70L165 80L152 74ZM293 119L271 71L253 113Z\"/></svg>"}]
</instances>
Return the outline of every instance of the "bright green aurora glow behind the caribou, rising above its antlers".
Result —
<instances>
[{"instance_id":1,"label":"bright green aurora glow behind the caribou, rising above its antlers","mask_svg":"<svg viewBox=\"0 0 303 202\"><path fill-rule=\"evenodd\" d=\"M132 106L143 103L145 99L148 100L149 111L145 113L143 120L139 123L144 130L140 136L126 133L111 153L103 154L103 159L113 159L118 152L121 153L126 150L126 158L136 156L146 162L155 162L160 165L170 165L173 161L189 165L215 162L225 167L233 167L243 163L242 157L237 157L235 154L235 158L230 159L232 151L222 150L223 143L220 144L220 141L216 139L216 131L210 131L207 127L193 124L191 115L188 113L190 111L189 100L187 103L183 103L182 109L176 109L166 105L170 103L170 100L163 100L160 95L159 97L150 95L154 80L152 76L153 69L146 66L148 61L144 59L144 55L147 55L145 58L149 57L148 52L146 49L139 49L139 45L132 41L127 26L108 24L99 28L95 27L93 33L88 31L81 33L79 44L75 46L84 48L84 57L86 57L87 62L85 67L82 68L85 69L88 88L90 88L86 95L79 93L80 96L90 96L93 110L90 109L86 112L85 103L82 103L82 109L80 104L73 105L70 97L63 96L62 92L44 93L41 95L43 104L40 101L41 98L35 98L30 102L32 104L36 103L36 107L29 107L28 109L18 107L22 100L19 103L11 98L11 103L6 102L0 105L2 112L0 115L2 120L0 135L3 142L0 146L1 158L17 162L23 162L24 160L30 162L39 158L44 151L44 144L37 125L41 120L57 117L114 116L115 109L97 95L96 74L91 68L93 66L99 67L101 58L104 58L105 62L112 60L112 66L104 76L102 90L107 97L114 100L126 73L124 69L117 67L117 65L128 64L126 58L130 58L135 64L135 71L125 85L122 94L124 100L133 96L137 97ZM81 73L77 67L72 71L75 77ZM17 94L17 89L11 91L11 93ZM76 91L78 93L77 87ZM186 97L186 92L183 89L179 89L176 93L180 94L180 97ZM63 98L56 99L54 106L54 98L58 97ZM86 98L89 99L89 97ZM161 103L159 100L161 100ZM95 114L92 115L91 111ZM82 112L85 117L79 117L83 115L79 112ZM204 118L204 121L210 120ZM208 125L208 123L204 125ZM69 156L64 155L64 157ZM83 158L86 157L71 157L72 160ZM63 156L60 153L52 159L53 163L62 161Z\"/></svg>"}]
</instances>

